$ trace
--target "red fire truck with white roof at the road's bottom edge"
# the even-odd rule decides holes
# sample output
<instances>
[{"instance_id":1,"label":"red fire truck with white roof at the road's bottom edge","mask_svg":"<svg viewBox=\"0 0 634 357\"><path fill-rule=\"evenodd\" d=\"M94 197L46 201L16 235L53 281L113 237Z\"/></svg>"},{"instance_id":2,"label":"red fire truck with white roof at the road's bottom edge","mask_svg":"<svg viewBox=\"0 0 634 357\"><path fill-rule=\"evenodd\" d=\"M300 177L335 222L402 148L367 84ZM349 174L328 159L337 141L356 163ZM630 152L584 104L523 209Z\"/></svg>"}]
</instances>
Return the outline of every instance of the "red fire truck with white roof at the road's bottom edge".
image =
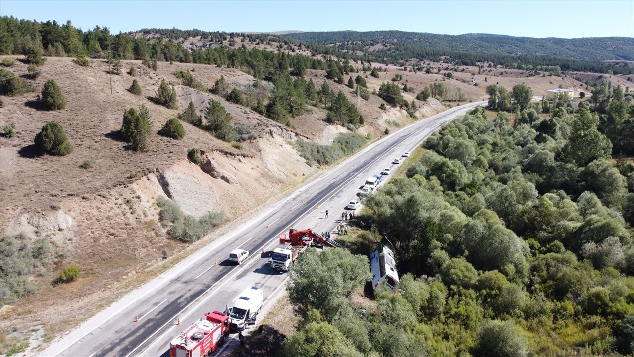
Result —
<instances>
[{"instance_id":1,"label":"red fire truck with white roof at the road's bottom edge","mask_svg":"<svg viewBox=\"0 0 634 357\"><path fill-rule=\"evenodd\" d=\"M229 334L229 316L214 311L192 323L169 347L170 357L204 357L223 344Z\"/></svg>"}]
</instances>

